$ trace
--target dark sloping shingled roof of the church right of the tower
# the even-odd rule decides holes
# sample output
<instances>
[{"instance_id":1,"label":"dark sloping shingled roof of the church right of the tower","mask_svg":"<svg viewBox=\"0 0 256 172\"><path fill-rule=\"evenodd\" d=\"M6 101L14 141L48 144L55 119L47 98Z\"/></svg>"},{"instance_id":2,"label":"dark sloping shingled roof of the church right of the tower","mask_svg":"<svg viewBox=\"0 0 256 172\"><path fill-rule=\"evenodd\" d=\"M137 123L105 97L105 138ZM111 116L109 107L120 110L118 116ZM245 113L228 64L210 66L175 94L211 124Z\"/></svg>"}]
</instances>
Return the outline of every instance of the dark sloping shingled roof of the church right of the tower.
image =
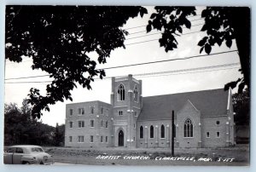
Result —
<instances>
[{"instance_id":1,"label":"dark sloping shingled roof of the church right of the tower","mask_svg":"<svg viewBox=\"0 0 256 172\"><path fill-rule=\"evenodd\" d=\"M189 100L201 112L202 117L222 116L227 114L229 91L212 89L143 97L143 110L138 121L172 119Z\"/></svg>"}]
</instances>

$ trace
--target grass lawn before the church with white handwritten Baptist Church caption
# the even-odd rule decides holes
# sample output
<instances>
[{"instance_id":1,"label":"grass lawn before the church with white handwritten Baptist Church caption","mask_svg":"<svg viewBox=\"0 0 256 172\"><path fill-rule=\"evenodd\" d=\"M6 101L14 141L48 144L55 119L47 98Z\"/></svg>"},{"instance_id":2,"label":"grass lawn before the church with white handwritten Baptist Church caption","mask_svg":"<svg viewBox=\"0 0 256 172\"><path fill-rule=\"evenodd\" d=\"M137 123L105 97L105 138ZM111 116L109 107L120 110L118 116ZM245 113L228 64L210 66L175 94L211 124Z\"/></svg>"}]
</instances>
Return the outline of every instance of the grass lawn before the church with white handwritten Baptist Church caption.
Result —
<instances>
[{"instance_id":1,"label":"grass lawn before the church with white handwritten Baptist Church caption","mask_svg":"<svg viewBox=\"0 0 256 172\"><path fill-rule=\"evenodd\" d=\"M225 148L130 149L127 147L44 147L56 162L98 165L249 165L248 145Z\"/></svg>"}]
</instances>

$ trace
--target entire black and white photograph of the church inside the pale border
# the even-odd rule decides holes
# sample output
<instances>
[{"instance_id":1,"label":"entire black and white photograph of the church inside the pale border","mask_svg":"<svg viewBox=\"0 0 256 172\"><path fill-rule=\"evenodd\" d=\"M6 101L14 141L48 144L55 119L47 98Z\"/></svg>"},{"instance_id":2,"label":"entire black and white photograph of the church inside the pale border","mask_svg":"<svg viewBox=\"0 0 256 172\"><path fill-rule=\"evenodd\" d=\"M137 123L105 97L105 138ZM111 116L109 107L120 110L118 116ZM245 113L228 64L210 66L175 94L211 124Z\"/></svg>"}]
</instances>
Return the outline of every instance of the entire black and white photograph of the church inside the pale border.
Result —
<instances>
[{"instance_id":1,"label":"entire black and white photograph of the church inside the pale border","mask_svg":"<svg viewBox=\"0 0 256 172\"><path fill-rule=\"evenodd\" d=\"M247 6L6 5L4 164L250 166Z\"/></svg>"}]
</instances>

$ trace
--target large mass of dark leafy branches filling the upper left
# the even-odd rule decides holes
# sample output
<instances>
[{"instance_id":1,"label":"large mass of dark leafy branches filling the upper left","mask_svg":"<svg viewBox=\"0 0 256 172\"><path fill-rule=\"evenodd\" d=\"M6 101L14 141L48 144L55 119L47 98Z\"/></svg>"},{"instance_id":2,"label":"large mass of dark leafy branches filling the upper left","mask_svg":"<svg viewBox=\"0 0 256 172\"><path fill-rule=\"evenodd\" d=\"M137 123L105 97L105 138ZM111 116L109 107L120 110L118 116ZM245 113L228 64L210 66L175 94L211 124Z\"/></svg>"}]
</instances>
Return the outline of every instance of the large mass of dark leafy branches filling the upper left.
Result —
<instances>
[{"instance_id":1,"label":"large mass of dark leafy branches filling the upper left","mask_svg":"<svg viewBox=\"0 0 256 172\"><path fill-rule=\"evenodd\" d=\"M32 69L48 72L53 80L46 95L30 89L32 117L40 118L56 101L72 100L70 91L77 83L91 89L90 82L105 72L96 69L88 53L96 52L97 61L106 63L113 49L125 48L128 32L121 26L146 13L143 7L125 6L7 6L5 58L32 58Z\"/></svg>"}]
</instances>

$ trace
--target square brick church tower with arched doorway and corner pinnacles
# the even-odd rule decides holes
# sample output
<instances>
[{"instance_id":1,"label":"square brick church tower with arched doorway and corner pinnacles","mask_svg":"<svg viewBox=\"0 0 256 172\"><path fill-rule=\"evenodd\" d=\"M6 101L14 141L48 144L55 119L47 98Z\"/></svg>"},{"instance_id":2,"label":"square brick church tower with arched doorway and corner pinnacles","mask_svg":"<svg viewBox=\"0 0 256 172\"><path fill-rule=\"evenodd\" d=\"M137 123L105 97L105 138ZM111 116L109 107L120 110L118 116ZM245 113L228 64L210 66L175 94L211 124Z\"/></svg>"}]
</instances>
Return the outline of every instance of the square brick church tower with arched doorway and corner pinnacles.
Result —
<instances>
[{"instance_id":1,"label":"square brick church tower with arched doorway and corner pinnacles","mask_svg":"<svg viewBox=\"0 0 256 172\"><path fill-rule=\"evenodd\" d=\"M137 147L137 118L142 110L142 81L112 77L114 146Z\"/></svg>"}]
</instances>

